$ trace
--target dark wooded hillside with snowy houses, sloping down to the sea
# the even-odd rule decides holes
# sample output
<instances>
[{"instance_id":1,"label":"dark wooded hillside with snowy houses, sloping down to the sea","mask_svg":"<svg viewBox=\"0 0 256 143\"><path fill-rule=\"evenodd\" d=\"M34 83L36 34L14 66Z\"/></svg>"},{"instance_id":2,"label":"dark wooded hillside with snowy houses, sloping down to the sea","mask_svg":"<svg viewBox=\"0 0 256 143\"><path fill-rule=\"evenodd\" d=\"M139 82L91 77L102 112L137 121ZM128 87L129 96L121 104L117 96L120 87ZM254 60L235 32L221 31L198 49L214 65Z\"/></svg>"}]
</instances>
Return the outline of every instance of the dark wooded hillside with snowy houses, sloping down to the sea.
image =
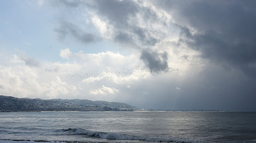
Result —
<instances>
[{"instance_id":1,"label":"dark wooded hillside with snowy houses, sloping down to the sea","mask_svg":"<svg viewBox=\"0 0 256 143\"><path fill-rule=\"evenodd\" d=\"M120 102L87 99L30 99L0 95L0 112L38 111L141 111L143 109Z\"/></svg>"}]
</instances>

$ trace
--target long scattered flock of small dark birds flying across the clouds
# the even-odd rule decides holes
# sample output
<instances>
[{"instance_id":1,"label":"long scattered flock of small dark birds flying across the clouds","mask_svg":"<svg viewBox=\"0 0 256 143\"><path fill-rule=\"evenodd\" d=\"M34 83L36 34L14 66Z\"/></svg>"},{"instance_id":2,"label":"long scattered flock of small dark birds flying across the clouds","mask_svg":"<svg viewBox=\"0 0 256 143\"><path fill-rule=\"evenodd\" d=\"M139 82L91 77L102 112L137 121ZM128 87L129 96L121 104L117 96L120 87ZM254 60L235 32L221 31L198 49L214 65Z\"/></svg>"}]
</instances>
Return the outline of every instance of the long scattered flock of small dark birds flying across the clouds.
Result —
<instances>
[{"instance_id":1,"label":"long scattered flock of small dark birds flying across the clouds","mask_svg":"<svg viewBox=\"0 0 256 143\"><path fill-rule=\"evenodd\" d=\"M127 78L133 78L133 76L139 77L140 75L145 74L159 74L165 73L170 74L173 71L178 69L173 69L169 67L139 67L136 66L134 68L120 68L120 69L107 69L105 71L92 71L92 72L73 72L68 74L60 74L55 76L49 76L49 80L56 80L56 78L60 78L61 81L66 82L70 85L79 85L82 87L92 87L97 86L111 86L116 80L121 80L122 82L126 82L125 85L129 85L129 82L126 81Z\"/></svg>"}]
</instances>

